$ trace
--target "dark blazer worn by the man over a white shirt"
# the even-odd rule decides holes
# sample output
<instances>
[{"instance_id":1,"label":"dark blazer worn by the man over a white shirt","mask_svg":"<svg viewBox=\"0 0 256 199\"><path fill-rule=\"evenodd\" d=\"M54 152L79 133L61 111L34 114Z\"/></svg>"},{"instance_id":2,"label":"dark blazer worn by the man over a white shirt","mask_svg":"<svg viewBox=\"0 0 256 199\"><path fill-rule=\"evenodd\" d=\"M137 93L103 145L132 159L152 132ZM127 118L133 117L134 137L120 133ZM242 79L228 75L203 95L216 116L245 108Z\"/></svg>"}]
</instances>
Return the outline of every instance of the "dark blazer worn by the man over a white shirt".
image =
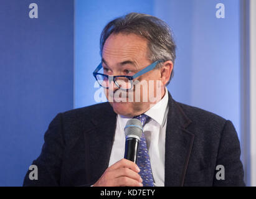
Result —
<instances>
[{"instance_id":1,"label":"dark blazer worn by the man over a white shirt","mask_svg":"<svg viewBox=\"0 0 256 199\"><path fill-rule=\"evenodd\" d=\"M244 186L233 124L168 95L164 185ZM116 113L109 103L57 114L32 163L38 167L38 180L30 180L28 170L23 185L93 185L108 167L115 129ZM224 165L225 180L217 180L217 165Z\"/></svg>"}]
</instances>

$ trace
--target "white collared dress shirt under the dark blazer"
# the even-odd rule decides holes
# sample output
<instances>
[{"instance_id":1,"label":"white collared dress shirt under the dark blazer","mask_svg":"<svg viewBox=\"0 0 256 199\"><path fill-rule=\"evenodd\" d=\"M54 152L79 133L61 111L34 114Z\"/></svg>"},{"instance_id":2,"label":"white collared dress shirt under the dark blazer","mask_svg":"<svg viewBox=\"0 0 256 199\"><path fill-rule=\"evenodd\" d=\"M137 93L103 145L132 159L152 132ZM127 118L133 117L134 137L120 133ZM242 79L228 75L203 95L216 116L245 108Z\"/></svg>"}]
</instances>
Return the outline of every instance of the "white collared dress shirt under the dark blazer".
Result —
<instances>
[{"instance_id":1,"label":"white collared dress shirt under the dark blazer","mask_svg":"<svg viewBox=\"0 0 256 199\"><path fill-rule=\"evenodd\" d=\"M154 186L164 187L164 154L165 154L165 135L168 114L168 90L165 88L164 97L148 111L145 112L149 119L143 127L146 137L148 153L151 162L151 169L154 178ZM116 131L113 142L110 162L108 166L115 164L123 159L125 154L125 125L131 118L116 116Z\"/></svg>"}]
</instances>

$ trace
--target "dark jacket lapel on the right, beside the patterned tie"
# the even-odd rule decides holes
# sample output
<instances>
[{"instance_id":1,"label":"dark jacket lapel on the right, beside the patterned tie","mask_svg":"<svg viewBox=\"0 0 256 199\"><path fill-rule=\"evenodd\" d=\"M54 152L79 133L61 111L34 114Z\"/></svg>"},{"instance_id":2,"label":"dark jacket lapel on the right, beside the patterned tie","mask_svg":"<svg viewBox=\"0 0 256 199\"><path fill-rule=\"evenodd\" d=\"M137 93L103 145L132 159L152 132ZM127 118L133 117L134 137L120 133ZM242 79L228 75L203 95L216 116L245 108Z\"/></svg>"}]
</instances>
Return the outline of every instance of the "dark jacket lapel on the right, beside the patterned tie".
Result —
<instances>
[{"instance_id":1,"label":"dark jacket lapel on the right, beside the patterned tie","mask_svg":"<svg viewBox=\"0 0 256 199\"><path fill-rule=\"evenodd\" d=\"M191 121L169 92L168 95L164 185L183 186L194 134L186 130Z\"/></svg>"}]
</instances>

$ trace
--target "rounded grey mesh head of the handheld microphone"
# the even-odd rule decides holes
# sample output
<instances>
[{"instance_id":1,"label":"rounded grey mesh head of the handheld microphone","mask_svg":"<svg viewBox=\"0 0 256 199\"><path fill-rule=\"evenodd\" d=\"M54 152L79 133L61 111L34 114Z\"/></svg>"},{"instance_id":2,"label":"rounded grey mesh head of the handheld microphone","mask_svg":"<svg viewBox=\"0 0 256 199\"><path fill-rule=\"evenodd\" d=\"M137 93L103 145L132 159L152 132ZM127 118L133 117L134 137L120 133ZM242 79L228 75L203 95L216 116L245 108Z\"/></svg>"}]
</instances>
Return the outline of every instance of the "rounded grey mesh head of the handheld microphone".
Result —
<instances>
[{"instance_id":1,"label":"rounded grey mesh head of the handheld microphone","mask_svg":"<svg viewBox=\"0 0 256 199\"><path fill-rule=\"evenodd\" d=\"M141 138L143 127L139 119L129 119L125 126L125 137Z\"/></svg>"}]
</instances>

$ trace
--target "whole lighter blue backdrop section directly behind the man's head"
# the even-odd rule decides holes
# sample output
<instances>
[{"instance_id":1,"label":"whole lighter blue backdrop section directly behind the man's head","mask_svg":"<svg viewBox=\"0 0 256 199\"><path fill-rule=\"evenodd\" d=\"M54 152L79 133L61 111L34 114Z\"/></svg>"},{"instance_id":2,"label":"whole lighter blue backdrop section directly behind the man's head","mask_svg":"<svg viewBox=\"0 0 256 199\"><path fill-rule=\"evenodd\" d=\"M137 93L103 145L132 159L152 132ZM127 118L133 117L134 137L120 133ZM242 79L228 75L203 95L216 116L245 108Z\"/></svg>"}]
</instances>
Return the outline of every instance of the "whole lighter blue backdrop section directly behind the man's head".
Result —
<instances>
[{"instance_id":1,"label":"whole lighter blue backdrop section directly behind the man's head","mask_svg":"<svg viewBox=\"0 0 256 199\"><path fill-rule=\"evenodd\" d=\"M219 2L224 19L216 18ZM97 103L92 72L100 62L100 33L108 21L131 11L152 14L173 29L178 46L168 85L173 98L230 119L240 136L239 0L77 0L74 108Z\"/></svg>"}]
</instances>

